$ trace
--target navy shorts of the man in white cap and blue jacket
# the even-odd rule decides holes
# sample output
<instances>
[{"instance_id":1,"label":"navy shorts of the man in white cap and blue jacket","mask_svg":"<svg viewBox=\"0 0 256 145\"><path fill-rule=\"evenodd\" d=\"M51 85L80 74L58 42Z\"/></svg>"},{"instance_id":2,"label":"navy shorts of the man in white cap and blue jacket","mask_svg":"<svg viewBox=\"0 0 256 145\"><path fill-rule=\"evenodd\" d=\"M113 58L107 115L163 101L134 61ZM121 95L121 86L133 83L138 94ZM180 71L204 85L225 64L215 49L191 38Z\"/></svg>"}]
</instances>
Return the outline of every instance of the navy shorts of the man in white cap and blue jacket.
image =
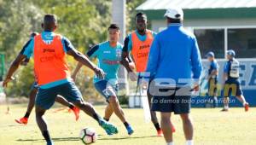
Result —
<instances>
[{"instance_id":1,"label":"navy shorts of the man in white cap and blue jacket","mask_svg":"<svg viewBox=\"0 0 256 145\"><path fill-rule=\"evenodd\" d=\"M191 95L177 96L176 92L179 89L180 88L176 88L175 92L171 96L153 96L151 110L161 113L190 113Z\"/></svg>"}]
</instances>

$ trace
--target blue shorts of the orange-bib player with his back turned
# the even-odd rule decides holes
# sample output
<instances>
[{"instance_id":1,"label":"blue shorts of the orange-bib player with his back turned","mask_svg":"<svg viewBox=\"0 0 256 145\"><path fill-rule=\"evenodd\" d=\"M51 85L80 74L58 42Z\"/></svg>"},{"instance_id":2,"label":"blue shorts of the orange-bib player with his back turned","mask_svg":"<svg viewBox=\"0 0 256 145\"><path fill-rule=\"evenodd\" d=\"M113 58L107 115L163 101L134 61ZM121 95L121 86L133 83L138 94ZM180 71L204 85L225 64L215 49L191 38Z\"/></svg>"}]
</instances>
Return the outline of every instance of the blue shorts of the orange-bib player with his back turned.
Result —
<instances>
[{"instance_id":1,"label":"blue shorts of the orange-bib player with his back turned","mask_svg":"<svg viewBox=\"0 0 256 145\"><path fill-rule=\"evenodd\" d=\"M68 82L49 89L39 88L36 97L36 105L44 109L49 109L54 105L57 95L63 96L68 102L84 101L78 87L73 82Z\"/></svg>"}]
</instances>

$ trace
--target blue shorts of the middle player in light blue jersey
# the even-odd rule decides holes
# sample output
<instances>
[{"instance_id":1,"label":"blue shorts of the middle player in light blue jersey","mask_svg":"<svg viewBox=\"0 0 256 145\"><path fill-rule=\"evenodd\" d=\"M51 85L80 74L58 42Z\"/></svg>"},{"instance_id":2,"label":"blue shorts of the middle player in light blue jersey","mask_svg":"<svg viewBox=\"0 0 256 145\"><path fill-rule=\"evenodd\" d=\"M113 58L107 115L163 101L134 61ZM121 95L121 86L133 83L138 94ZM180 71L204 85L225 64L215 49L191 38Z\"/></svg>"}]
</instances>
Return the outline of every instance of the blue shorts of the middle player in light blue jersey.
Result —
<instances>
[{"instance_id":1,"label":"blue shorts of the middle player in light blue jersey","mask_svg":"<svg viewBox=\"0 0 256 145\"><path fill-rule=\"evenodd\" d=\"M108 84L107 80L101 80L94 84L96 90L106 98L108 102L109 96L117 96L119 87L118 84Z\"/></svg>"}]
</instances>

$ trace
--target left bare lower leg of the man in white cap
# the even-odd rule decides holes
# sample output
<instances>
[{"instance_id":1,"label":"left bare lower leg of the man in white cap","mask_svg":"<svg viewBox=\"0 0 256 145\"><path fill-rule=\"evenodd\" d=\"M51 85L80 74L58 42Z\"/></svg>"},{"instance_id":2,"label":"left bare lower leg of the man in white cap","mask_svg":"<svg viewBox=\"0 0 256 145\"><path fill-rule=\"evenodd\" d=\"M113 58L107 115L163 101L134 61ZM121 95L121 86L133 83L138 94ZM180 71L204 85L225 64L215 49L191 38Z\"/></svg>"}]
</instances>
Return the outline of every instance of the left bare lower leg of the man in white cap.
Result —
<instances>
[{"instance_id":1,"label":"left bare lower leg of the man in white cap","mask_svg":"<svg viewBox=\"0 0 256 145\"><path fill-rule=\"evenodd\" d=\"M172 123L171 123L171 112L170 113L164 113L161 112L161 128L162 131L164 133L164 137L165 140L167 142L167 144L171 144L172 143L172 130L170 130L170 128L172 128Z\"/></svg>"}]
</instances>

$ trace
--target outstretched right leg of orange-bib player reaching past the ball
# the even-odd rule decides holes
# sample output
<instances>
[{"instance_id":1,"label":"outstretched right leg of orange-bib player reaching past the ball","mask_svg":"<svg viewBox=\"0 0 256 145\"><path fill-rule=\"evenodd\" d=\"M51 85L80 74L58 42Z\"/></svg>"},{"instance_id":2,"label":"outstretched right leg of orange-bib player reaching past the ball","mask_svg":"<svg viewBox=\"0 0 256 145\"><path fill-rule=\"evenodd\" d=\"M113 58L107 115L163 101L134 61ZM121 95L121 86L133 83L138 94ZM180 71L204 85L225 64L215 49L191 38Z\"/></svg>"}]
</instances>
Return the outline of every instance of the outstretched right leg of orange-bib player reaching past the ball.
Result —
<instances>
[{"instance_id":1,"label":"outstretched right leg of orange-bib player reaching past the ball","mask_svg":"<svg viewBox=\"0 0 256 145\"><path fill-rule=\"evenodd\" d=\"M82 94L77 86L73 83L67 83L60 85L61 90L58 91L58 94L64 96L67 101L72 102L76 107L79 107L84 113L88 114L93 119L102 126L102 128L108 133L108 135L112 135L114 133L118 133L117 128L108 123L108 121L102 119L102 117L96 113L95 108L88 102L84 102Z\"/></svg>"}]
</instances>

